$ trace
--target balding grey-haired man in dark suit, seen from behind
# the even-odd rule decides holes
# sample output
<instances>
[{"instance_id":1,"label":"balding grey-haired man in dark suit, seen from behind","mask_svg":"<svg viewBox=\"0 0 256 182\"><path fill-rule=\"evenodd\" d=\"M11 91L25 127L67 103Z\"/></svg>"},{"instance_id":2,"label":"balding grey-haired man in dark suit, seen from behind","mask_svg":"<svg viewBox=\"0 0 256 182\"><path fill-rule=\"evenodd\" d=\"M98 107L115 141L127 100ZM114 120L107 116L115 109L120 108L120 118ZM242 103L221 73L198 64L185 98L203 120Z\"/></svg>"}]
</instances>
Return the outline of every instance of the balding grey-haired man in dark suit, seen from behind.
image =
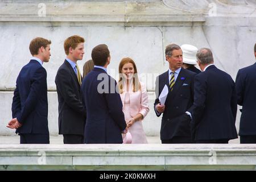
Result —
<instances>
[{"instance_id":1,"label":"balding grey-haired man in dark suit, seen from behind","mask_svg":"<svg viewBox=\"0 0 256 182\"><path fill-rule=\"evenodd\" d=\"M237 97L232 77L216 68L212 51L197 54L201 73L195 76L192 138L196 143L228 143L237 138Z\"/></svg>"}]
</instances>

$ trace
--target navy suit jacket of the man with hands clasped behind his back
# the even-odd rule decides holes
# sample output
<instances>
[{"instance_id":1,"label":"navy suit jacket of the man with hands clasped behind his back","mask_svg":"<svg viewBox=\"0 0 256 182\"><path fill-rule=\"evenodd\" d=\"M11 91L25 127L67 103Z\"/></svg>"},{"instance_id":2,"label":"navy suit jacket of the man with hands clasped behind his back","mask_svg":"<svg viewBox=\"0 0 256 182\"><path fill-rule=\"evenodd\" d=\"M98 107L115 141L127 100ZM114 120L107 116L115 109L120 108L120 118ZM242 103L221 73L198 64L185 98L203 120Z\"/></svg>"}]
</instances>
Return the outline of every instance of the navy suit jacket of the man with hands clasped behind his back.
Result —
<instances>
[{"instance_id":1,"label":"navy suit jacket of the man with hands clasped behind his back","mask_svg":"<svg viewBox=\"0 0 256 182\"><path fill-rule=\"evenodd\" d=\"M49 134L46 69L36 60L25 65L16 80L13 104L13 118L22 126L19 134Z\"/></svg>"}]
</instances>

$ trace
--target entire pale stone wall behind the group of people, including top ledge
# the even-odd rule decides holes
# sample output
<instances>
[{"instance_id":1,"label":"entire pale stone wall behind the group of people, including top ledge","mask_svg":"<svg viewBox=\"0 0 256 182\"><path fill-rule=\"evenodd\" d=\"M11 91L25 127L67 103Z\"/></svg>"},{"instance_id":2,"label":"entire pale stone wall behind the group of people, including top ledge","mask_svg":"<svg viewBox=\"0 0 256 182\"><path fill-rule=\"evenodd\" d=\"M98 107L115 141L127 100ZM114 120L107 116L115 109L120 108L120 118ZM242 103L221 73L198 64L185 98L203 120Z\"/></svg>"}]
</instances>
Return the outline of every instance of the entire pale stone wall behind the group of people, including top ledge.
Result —
<instances>
[{"instance_id":1,"label":"entire pale stone wall behind the group of people, including top ledge","mask_svg":"<svg viewBox=\"0 0 256 182\"><path fill-rule=\"evenodd\" d=\"M181 3L183 2L183 3ZM206 2L206 1L205 1ZM32 38L50 39L51 59L47 70L49 130L57 135L55 75L65 59L64 40L83 36L85 56L80 68L91 59L92 48L105 43L112 56L108 67L116 77L122 57L137 63L141 80L150 96L150 113L144 119L147 135L159 135L160 118L154 114L154 82L167 71L164 48L170 43L209 47L214 63L233 79L238 69L255 62L256 3L249 1L0 1L0 135L7 129L16 77L31 55ZM240 113L237 116L237 127Z\"/></svg>"}]
</instances>

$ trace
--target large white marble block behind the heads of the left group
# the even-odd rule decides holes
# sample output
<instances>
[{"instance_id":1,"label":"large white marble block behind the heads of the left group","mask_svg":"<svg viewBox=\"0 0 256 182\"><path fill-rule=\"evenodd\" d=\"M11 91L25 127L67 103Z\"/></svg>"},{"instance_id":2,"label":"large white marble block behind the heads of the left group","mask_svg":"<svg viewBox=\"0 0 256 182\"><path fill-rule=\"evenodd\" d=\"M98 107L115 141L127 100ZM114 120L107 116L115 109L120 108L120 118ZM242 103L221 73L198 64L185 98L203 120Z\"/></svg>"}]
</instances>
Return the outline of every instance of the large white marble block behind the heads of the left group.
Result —
<instances>
[{"instance_id":1,"label":"large white marble block behind the heads of the left group","mask_svg":"<svg viewBox=\"0 0 256 182\"><path fill-rule=\"evenodd\" d=\"M50 61L43 65L47 70L49 90L56 90L54 82L56 72L65 59L64 40L74 34L85 38L85 55L81 61L78 61L81 69L85 61L91 59L92 48L105 43L112 56L108 72L115 77L118 76L118 64L123 57L134 59L138 64L138 72L142 75L157 74L163 70L162 34L158 27L0 26L0 31L1 42L6 42L3 47L10 47L9 53L0 53L3 59L0 68L1 90L15 88L20 69L30 60L28 46L35 36L42 36L52 41ZM151 82L147 82L150 90L154 89L152 88L155 84L154 76L154 74L148 76L151 78Z\"/></svg>"}]
</instances>

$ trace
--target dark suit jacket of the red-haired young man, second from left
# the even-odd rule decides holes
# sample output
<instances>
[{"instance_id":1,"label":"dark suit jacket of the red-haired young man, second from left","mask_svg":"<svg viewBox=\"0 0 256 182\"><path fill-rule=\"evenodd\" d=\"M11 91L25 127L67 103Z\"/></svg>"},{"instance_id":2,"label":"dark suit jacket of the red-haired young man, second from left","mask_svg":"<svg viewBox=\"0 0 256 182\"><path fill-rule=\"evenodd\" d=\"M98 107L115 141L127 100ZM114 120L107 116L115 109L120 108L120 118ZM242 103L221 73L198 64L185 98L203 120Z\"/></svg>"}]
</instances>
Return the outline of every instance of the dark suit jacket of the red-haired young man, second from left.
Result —
<instances>
[{"instance_id":1,"label":"dark suit jacket of the red-haired young man, second from left","mask_svg":"<svg viewBox=\"0 0 256 182\"><path fill-rule=\"evenodd\" d=\"M67 60L57 71L55 83L59 101L59 134L84 135L86 110L76 73Z\"/></svg>"}]
</instances>

